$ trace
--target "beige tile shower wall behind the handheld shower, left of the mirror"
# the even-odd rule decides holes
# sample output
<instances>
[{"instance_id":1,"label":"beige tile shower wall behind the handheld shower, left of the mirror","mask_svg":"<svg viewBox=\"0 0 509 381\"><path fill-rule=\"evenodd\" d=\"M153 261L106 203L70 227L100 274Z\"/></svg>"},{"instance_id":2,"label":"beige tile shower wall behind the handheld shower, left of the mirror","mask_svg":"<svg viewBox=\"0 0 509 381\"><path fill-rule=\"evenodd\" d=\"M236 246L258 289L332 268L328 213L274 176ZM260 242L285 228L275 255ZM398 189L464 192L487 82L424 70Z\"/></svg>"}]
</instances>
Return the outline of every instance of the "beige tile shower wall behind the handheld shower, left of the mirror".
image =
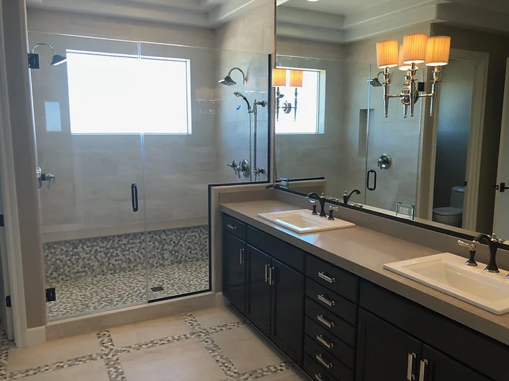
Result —
<instances>
[{"instance_id":1,"label":"beige tile shower wall behind the handheld shower, left of the mirror","mask_svg":"<svg viewBox=\"0 0 509 381\"><path fill-rule=\"evenodd\" d=\"M254 152L250 154L250 116L246 103L235 97L238 91L254 100L269 100L268 93L268 54L274 51L274 0L259 0L254 8L242 16L232 19L216 31L216 46L221 49L217 65L217 78L224 78L232 67L241 68L248 82L242 84L241 74L232 73L237 82L235 86L219 86L219 115L217 115L217 146L219 171L227 182L249 181L250 178L235 176L235 172L226 167L232 160L248 159L254 169ZM239 110L237 107L241 106ZM268 170L268 107L259 108L257 117L257 166ZM254 115L251 115L254 132ZM251 134L251 145L254 137ZM266 180L267 175L258 180ZM254 180L254 177L253 177Z\"/></svg>"}]
</instances>

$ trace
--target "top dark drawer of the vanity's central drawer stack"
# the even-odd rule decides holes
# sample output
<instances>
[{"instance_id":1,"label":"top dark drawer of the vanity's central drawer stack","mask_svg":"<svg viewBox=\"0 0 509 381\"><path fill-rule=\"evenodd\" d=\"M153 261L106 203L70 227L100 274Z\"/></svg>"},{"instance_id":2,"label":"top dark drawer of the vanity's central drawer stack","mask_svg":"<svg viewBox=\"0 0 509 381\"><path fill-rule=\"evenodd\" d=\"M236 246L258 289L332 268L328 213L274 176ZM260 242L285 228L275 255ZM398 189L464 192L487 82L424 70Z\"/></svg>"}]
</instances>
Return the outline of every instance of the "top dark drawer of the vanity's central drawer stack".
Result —
<instances>
[{"instance_id":1,"label":"top dark drawer of the vanity's central drawer stack","mask_svg":"<svg viewBox=\"0 0 509 381\"><path fill-rule=\"evenodd\" d=\"M308 254L306 275L339 295L358 303L359 279L354 274Z\"/></svg>"}]
</instances>

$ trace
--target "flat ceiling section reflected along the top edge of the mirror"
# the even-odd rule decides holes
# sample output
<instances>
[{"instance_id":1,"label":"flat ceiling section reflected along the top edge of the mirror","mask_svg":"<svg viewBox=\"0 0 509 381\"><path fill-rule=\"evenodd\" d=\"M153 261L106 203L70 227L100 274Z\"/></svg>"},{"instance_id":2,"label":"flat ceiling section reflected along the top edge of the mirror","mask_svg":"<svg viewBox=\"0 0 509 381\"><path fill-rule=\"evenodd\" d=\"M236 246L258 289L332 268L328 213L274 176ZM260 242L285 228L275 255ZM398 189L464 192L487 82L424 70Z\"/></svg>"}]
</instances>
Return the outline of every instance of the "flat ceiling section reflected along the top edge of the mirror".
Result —
<instances>
[{"instance_id":1,"label":"flat ceiling section reflected along the top edge of the mirror","mask_svg":"<svg viewBox=\"0 0 509 381\"><path fill-rule=\"evenodd\" d=\"M313 10L316 12L347 15L361 12L389 1L390 0L288 0L283 6L300 8L303 10Z\"/></svg>"}]
</instances>

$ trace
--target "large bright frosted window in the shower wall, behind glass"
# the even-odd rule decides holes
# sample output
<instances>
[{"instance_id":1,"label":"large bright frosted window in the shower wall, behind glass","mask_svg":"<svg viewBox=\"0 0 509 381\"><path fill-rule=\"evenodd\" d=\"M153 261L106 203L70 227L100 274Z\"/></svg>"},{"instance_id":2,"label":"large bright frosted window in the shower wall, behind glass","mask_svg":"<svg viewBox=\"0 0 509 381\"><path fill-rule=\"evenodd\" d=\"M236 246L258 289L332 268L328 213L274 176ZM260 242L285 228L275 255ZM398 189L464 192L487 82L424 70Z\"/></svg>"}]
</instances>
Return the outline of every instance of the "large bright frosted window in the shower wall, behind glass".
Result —
<instances>
[{"instance_id":1,"label":"large bright frosted window in the shower wall, behind glass","mask_svg":"<svg viewBox=\"0 0 509 381\"><path fill-rule=\"evenodd\" d=\"M67 51L73 134L190 134L189 60Z\"/></svg>"}]
</instances>

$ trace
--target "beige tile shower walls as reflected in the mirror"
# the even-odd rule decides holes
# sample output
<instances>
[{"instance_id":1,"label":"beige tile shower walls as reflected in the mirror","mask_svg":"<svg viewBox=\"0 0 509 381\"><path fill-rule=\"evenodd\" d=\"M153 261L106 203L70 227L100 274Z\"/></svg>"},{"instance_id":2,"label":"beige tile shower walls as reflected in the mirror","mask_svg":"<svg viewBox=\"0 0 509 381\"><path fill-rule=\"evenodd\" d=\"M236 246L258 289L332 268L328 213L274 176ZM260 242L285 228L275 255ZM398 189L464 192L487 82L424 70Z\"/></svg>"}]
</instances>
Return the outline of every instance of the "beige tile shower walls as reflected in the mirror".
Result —
<instances>
[{"instance_id":1,"label":"beige tile shower walls as reflected in the mirror","mask_svg":"<svg viewBox=\"0 0 509 381\"><path fill-rule=\"evenodd\" d=\"M277 135L277 175L288 177L325 176L327 194L340 197L347 189L358 188L360 196L352 201L382 209L395 210L397 202L417 203L418 165L422 111L419 102L415 117L404 119L402 104L392 100L389 118L385 118L383 89L368 86L367 80L378 73L376 41L405 34L429 34L429 24L411 30L399 30L365 41L336 45L310 43L278 38L281 65L324 69L327 78L325 134ZM312 58L299 58L312 57ZM361 63L365 62L365 63ZM370 67L371 64L371 67ZM418 73L423 77L422 70ZM382 79L381 79L382 80ZM391 93L398 93L404 82L403 73L393 71ZM368 105L369 103L369 105ZM363 146L360 111L368 113L369 134L367 147ZM387 153L393 159L389 170L380 170L376 161ZM367 168L366 168L367 165ZM378 172L374 192L365 187L366 171Z\"/></svg>"}]
</instances>

